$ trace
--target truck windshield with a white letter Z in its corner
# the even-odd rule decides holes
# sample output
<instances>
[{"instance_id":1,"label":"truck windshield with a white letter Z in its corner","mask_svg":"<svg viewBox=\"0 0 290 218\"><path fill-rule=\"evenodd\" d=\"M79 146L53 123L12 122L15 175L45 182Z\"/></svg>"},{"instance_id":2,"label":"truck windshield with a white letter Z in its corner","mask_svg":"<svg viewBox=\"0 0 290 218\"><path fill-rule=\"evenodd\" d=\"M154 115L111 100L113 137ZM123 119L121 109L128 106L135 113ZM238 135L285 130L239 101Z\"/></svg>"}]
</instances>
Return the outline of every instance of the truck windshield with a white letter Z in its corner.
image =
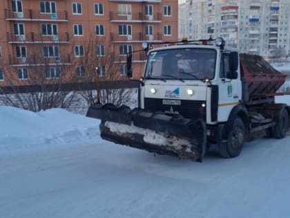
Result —
<instances>
[{"instance_id":1,"label":"truck windshield with a white letter Z in its corner","mask_svg":"<svg viewBox=\"0 0 290 218\"><path fill-rule=\"evenodd\" d=\"M215 76L216 51L209 48L178 48L151 52L145 78L203 80Z\"/></svg>"}]
</instances>

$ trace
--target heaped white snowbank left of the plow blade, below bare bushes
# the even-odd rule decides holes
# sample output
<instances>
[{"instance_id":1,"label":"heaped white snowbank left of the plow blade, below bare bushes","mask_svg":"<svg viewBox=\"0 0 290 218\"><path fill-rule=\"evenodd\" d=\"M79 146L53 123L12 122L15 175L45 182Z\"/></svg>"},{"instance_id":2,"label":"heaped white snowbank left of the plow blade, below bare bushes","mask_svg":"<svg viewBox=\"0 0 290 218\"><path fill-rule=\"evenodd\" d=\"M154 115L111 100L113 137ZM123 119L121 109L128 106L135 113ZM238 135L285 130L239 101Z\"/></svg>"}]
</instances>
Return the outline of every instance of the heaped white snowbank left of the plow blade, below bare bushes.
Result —
<instances>
[{"instance_id":1,"label":"heaped white snowbank left of the plow blade, below bare bushes","mask_svg":"<svg viewBox=\"0 0 290 218\"><path fill-rule=\"evenodd\" d=\"M0 150L75 143L99 137L99 120L64 109L34 113L0 106Z\"/></svg>"}]
</instances>

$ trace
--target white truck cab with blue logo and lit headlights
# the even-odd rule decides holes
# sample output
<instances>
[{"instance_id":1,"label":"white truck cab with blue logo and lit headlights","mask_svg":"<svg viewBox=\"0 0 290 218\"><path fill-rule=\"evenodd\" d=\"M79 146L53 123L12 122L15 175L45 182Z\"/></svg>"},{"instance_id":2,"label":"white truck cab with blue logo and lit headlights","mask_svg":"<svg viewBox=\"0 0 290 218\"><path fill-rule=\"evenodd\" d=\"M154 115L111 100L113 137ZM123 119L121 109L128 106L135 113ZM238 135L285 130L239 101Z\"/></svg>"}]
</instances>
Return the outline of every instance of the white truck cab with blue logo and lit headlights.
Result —
<instances>
[{"instance_id":1,"label":"white truck cab with blue logo and lit headlights","mask_svg":"<svg viewBox=\"0 0 290 218\"><path fill-rule=\"evenodd\" d=\"M200 44L152 49L139 91L142 109L226 122L242 99L238 52Z\"/></svg>"}]
</instances>

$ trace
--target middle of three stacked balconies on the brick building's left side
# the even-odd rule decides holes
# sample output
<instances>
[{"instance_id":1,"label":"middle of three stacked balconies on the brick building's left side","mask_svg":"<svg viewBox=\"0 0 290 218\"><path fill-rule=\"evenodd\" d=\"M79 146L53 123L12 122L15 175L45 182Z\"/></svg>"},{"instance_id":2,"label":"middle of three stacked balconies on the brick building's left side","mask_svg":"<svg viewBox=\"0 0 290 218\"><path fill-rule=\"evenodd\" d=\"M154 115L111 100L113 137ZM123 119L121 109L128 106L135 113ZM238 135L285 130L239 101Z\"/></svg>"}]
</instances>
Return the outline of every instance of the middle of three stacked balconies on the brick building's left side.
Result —
<instances>
[{"instance_id":1,"label":"middle of three stacked balconies on the brick building's left side","mask_svg":"<svg viewBox=\"0 0 290 218\"><path fill-rule=\"evenodd\" d=\"M8 43L10 44L31 44L31 43L69 43L68 33L59 33L58 35L41 35L37 33L26 33L25 35L14 35L6 33Z\"/></svg>"}]
</instances>

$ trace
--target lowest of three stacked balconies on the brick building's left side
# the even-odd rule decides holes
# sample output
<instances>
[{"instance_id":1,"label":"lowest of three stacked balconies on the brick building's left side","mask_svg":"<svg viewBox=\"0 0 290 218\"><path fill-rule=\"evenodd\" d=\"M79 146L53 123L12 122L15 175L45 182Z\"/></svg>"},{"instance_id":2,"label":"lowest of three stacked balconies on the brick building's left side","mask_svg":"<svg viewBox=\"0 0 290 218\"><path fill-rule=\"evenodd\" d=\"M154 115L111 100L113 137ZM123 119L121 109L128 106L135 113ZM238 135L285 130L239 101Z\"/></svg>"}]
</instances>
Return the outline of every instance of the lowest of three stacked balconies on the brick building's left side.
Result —
<instances>
[{"instance_id":1,"label":"lowest of three stacked balconies on the brick building's left side","mask_svg":"<svg viewBox=\"0 0 290 218\"><path fill-rule=\"evenodd\" d=\"M9 55L9 64L11 66L39 66L39 65L62 65L70 64L71 58L69 54L60 55L59 57L44 57L42 55L28 55L27 57L14 57Z\"/></svg>"}]
</instances>

